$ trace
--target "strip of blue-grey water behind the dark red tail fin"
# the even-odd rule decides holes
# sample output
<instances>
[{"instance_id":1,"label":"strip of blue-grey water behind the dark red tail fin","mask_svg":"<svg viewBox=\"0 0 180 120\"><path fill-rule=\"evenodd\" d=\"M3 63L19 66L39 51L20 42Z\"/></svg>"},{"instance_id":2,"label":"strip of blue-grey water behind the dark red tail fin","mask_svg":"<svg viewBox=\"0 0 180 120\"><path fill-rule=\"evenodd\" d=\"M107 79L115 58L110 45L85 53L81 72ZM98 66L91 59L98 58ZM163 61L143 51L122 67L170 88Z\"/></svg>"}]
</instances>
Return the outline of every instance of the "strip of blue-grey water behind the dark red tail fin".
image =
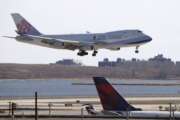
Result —
<instances>
[{"instance_id":1,"label":"strip of blue-grey water behind the dark red tail fin","mask_svg":"<svg viewBox=\"0 0 180 120\"><path fill-rule=\"evenodd\" d=\"M97 96L93 84L77 85L85 80L0 80L0 97L31 97L37 91L44 97L61 96ZM93 81L87 81L92 83ZM114 87L125 96L180 95L178 80L111 80ZM140 85L138 84L140 83ZM149 84L149 85L142 85ZM173 85L153 85L153 84ZM177 83L177 85L176 85ZM126 84L126 85L125 85ZM131 85L127 85L131 84ZM137 84L137 85L132 85Z\"/></svg>"}]
</instances>

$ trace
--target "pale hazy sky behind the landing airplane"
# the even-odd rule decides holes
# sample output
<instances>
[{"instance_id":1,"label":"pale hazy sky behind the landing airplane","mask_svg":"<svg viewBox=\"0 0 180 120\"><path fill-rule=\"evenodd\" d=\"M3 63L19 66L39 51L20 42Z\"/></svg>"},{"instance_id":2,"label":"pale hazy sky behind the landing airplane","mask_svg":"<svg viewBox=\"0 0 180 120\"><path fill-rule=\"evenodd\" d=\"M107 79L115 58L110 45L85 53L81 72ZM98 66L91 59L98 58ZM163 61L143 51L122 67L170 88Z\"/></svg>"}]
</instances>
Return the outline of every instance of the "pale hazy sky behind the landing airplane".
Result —
<instances>
[{"instance_id":1,"label":"pale hazy sky behind the landing airplane","mask_svg":"<svg viewBox=\"0 0 180 120\"><path fill-rule=\"evenodd\" d=\"M96 57L79 57L77 51L44 48L13 39L0 39L0 63L53 63L72 58L97 65L103 58L148 59L159 53L180 61L180 0L1 0L0 35L15 36L10 13L22 14L44 34L108 32L140 29L153 41L120 51L99 50Z\"/></svg>"}]
</instances>

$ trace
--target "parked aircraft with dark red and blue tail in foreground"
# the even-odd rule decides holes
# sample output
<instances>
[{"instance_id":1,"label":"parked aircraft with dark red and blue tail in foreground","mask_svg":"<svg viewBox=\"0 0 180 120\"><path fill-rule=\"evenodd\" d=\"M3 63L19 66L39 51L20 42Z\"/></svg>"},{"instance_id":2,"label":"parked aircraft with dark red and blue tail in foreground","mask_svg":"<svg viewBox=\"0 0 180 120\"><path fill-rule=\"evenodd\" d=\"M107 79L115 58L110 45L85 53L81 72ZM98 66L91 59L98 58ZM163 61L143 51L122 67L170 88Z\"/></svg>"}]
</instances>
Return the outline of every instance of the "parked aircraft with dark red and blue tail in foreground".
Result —
<instances>
[{"instance_id":1,"label":"parked aircraft with dark red and blue tail in foreground","mask_svg":"<svg viewBox=\"0 0 180 120\"><path fill-rule=\"evenodd\" d=\"M114 88L113 86L104 78L104 77L94 77L94 83L100 101L103 107L102 112L95 112L94 108L89 109L93 110L93 115L119 115L126 117L129 114L129 117L135 118L169 118L169 111L143 111L141 108L136 108L130 105ZM175 118L180 118L180 112L174 112Z\"/></svg>"}]
</instances>

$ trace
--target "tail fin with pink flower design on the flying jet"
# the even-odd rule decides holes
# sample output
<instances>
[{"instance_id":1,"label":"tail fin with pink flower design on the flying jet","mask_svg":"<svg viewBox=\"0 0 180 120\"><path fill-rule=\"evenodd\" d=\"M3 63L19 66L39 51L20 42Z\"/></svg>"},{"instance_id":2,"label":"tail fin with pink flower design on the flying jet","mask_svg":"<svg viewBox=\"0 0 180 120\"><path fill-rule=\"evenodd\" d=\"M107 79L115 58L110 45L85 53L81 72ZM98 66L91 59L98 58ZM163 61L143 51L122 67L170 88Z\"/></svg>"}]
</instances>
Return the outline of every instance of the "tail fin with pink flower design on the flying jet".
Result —
<instances>
[{"instance_id":1,"label":"tail fin with pink flower design on the flying jet","mask_svg":"<svg viewBox=\"0 0 180 120\"><path fill-rule=\"evenodd\" d=\"M12 18L17 27L17 33L20 35L41 35L41 33L36 30L27 20L25 20L20 14L12 13Z\"/></svg>"}]
</instances>

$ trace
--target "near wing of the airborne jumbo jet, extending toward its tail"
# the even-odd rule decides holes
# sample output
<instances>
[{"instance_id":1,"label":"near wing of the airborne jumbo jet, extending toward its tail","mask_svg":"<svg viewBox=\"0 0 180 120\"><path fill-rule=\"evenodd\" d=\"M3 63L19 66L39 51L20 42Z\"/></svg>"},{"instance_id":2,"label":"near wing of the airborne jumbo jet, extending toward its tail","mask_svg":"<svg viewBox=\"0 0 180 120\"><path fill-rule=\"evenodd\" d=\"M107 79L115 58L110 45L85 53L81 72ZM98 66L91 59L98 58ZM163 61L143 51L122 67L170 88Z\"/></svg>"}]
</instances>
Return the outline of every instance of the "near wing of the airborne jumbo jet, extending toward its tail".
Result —
<instances>
[{"instance_id":1,"label":"near wing of the airborne jumbo jet, extending toward its tail","mask_svg":"<svg viewBox=\"0 0 180 120\"><path fill-rule=\"evenodd\" d=\"M62 45L66 49L69 50L75 50L79 48L84 48L90 46L92 43L90 42L80 42L80 41L74 41L74 40L65 40L65 39L56 39L51 37L43 37L43 36L34 36L34 35L27 35L28 37L32 39L39 39L41 42L49 44L49 45Z\"/></svg>"}]
</instances>

